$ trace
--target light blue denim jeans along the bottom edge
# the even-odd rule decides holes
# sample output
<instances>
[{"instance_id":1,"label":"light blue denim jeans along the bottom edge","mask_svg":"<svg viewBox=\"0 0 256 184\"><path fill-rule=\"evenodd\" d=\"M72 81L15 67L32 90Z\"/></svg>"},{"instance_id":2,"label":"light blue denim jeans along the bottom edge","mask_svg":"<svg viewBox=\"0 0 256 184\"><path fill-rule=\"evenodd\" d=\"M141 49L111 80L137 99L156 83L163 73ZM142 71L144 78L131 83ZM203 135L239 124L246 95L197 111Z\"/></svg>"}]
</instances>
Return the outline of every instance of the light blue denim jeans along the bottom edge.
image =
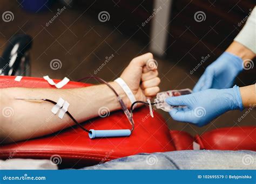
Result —
<instances>
[{"instance_id":1,"label":"light blue denim jeans along the bottom edge","mask_svg":"<svg viewBox=\"0 0 256 184\"><path fill-rule=\"evenodd\" d=\"M256 169L256 152L185 150L140 153L83 169Z\"/></svg>"}]
</instances>

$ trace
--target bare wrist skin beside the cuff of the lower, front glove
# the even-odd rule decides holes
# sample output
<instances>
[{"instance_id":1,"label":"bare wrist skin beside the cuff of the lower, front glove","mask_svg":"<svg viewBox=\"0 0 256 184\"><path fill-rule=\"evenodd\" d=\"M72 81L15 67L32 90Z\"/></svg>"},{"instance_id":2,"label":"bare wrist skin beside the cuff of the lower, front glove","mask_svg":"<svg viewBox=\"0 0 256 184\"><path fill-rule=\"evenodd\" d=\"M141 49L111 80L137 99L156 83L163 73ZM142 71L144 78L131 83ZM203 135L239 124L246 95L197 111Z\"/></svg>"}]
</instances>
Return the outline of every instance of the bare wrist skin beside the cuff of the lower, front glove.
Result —
<instances>
[{"instance_id":1,"label":"bare wrist skin beside the cuff of the lower, front glove","mask_svg":"<svg viewBox=\"0 0 256 184\"><path fill-rule=\"evenodd\" d=\"M242 105L244 105L245 108L256 106L256 84L240 87L240 93L242 97Z\"/></svg>"}]
</instances>

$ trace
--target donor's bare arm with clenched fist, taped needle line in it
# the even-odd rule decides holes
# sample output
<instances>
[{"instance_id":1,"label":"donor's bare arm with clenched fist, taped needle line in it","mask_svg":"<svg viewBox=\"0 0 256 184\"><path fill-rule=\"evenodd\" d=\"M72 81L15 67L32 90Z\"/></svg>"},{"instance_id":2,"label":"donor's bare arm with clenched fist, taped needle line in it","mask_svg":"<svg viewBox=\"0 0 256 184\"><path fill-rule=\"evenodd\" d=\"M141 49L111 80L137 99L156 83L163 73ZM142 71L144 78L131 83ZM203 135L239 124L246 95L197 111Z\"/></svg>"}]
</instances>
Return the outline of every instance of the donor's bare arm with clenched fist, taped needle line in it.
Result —
<instances>
[{"instance_id":1,"label":"donor's bare arm with clenched fist, taped needle line in it","mask_svg":"<svg viewBox=\"0 0 256 184\"><path fill-rule=\"evenodd\" d=\"M134 58L120 77L132 90L136 100L145 101L147 97L155 96L160 79L157 69L146 68L146 61L153 55L147 53ZM131 102L123 89L116 82L110 85L117 91L127 107ZM3 88L0 89L1 109L11 107L13 116L0 118L0 143L11 143L39 136L48 135L74 125L68 115L63 119L53 115L49 102L31 102L16 100L18 98L48 98L55 102L59 97L70 103L69 112L79 122L97 117L98 110L106 107L110 111L120 109L116 95L106 85L90 86L75 89L36 89L36 88Z\"/></svg>"}]
</instances>

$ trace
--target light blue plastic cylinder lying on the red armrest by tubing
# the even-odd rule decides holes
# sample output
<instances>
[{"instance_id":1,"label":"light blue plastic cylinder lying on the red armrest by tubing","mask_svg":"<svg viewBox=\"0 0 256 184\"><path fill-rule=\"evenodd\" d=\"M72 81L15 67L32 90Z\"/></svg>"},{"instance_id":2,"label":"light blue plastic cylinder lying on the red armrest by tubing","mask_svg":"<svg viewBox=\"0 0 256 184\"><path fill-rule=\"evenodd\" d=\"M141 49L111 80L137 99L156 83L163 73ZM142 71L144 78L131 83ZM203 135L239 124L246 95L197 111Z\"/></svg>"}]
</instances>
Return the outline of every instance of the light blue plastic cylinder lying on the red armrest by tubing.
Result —
<instances>
[{"instance_id":1,"label":"light blue plastic cylinder lying on the red armrest by tubing","mask_svg":"<svg viewBox=\"0 0 256 184\"><path fill-rule=\"evenodd\" d=\"M91 139L98 137L126 137L131 135L131 130L90 130L89 137Z\"/></svg>"}]
</instances>

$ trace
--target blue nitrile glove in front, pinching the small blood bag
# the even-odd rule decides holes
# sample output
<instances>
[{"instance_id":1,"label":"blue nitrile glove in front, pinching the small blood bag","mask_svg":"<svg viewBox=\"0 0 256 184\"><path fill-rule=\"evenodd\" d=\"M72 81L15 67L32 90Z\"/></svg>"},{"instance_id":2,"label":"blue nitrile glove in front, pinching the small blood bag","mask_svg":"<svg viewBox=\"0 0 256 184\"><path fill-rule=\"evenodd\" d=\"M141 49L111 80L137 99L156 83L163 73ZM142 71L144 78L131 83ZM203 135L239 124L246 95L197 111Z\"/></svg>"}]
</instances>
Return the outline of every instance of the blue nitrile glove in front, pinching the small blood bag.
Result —
<instances>
[{"instance_id":1,"label":"blue nitrile glove in front, pinching the small blood bag","mask_svg":"<svg viewBox=\"0 0 256 184\"><path fill-rule=\"evenodd\" d=\"M170 105L186 105L185 108L174 108L171 117L180 122L203 126L224 112L244 109L238 86L229 89L207 89L189 95L166 98Z\"/></svg>"}]
</instances>

